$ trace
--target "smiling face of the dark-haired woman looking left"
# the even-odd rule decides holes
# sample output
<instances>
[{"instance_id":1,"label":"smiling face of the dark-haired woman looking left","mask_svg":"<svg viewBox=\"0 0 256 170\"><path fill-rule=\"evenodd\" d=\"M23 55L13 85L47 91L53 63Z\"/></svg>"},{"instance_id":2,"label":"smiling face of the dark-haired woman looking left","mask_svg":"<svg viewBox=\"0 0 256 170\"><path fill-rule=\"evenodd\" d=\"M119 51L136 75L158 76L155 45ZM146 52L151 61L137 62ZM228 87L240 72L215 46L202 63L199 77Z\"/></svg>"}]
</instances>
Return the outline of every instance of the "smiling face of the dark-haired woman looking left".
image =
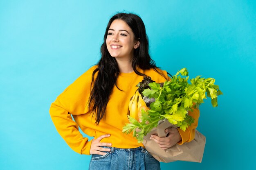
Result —
<instances>
[{"instance_id":1,"label":"smiling face of the dark-haired woman looking left","mask_svg":"<svg viewBox=\"0 0 256 170\"><path fill-rule=\"evenodd\" d=\"M123 20L114 20L108 29L106 39L108 52L112 57L128 61L133 57L133 50L139 47L132 29Z\"/></svg>"}]
</instances>

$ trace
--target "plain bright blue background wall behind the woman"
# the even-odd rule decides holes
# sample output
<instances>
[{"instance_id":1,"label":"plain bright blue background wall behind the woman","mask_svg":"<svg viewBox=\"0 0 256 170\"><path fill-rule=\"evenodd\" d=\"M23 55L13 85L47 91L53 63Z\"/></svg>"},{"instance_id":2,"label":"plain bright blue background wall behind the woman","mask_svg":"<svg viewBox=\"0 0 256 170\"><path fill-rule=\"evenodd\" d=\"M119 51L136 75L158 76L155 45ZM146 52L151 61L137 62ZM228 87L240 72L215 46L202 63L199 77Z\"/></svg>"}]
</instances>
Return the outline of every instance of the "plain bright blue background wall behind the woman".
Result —
<instances>
[{"instance_id":1,"label":"plain bright blue background wall behind the woman","mask_svg":"<svg viewBox=\"0 0 256 170\"><path fill-rule=\"evenodd\" d=\"M0 169L84 170L58 135L50 104L100 57L108 20L134 12L150 54L171 74L216 78L224 93L200 107L202 163L162 170L252 169L255 160L256 2L246 0L0 0ZM254 134L254 135L253 135Z\"/></svg>"}]
</instances>

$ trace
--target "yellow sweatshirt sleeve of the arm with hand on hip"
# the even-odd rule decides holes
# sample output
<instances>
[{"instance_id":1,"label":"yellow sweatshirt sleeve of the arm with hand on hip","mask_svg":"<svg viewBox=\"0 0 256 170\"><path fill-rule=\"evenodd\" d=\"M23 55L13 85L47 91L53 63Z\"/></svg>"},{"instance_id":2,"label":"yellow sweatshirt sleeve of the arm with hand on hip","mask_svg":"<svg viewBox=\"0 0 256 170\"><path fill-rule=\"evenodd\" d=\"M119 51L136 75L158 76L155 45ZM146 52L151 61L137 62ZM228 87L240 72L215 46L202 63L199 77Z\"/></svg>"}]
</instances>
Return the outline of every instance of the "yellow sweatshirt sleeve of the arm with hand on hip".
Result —
<instances>
[{"instance_id":1,"label":"yellow sweatshirt sleeve of the arm with hand on hip","mask_svg":"<svg viewBox=\"0 0 256 170\"><path fill-rule=\"evenodd\" d=\"M94 67L93 67L94 68ZM91 142L79 131L71 115L88 113L88 98L93 68L76 79L51 104L49 113L58 133L76 153L90 155Z\"/></svg>"}]
</instances>

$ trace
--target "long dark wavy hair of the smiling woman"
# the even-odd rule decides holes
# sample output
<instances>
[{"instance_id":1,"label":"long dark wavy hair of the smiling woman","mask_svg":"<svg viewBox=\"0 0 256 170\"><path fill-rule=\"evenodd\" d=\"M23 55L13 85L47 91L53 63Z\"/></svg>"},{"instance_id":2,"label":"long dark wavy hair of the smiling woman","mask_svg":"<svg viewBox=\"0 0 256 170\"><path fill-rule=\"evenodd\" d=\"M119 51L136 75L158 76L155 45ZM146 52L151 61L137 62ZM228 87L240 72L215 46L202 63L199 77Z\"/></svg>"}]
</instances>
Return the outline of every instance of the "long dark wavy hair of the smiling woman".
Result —
<instances>
[{"instance_id":1,"label":"long dark wavy hair of the smiling woman","mask_svg":"<svg viewBox=\"0 0 256 170\"><path fill-rule=\"evenodd\" d=\"M142 70L153 68L158 72L156 69L158 67L155 65L155 61L150 58L148 53L148 36L146 35L145 25L141 18L133 13L117 13L112 16L106 28L104 42L101 45L101 59L97 63L98 67L92 73L91 87L93 84L93 88L90 93L88 107L92 109L92 114L96 119L96 124L99 124L100 120L105 115L110 94L112 93L114 85L117 87L117 77L120 73L117 61L115 57L110 55L106 45L108 29L110 28L111 23L116 19L125 21L132 29L132 32L135 35L135 40L140 42L139 47L134 49L134 56L132 58L132 68L134 72L140 76L146 76L145 74L137 71L137 65ZM94 74L97 72L98 75L94 80ZM162 74L162 76L164 75ZM119 87L117 88L119 89Z\"/></svg>"}]
</instances>

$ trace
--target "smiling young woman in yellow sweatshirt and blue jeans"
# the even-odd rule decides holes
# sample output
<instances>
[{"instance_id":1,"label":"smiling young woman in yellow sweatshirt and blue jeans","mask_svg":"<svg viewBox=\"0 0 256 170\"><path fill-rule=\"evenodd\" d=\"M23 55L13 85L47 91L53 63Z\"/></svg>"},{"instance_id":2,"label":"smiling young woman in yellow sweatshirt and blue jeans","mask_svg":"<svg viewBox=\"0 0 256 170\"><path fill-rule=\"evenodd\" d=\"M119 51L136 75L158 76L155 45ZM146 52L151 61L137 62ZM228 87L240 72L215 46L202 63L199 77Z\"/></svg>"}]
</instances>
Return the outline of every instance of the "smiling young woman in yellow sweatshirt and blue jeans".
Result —
<instances>
[{"instance_id":1,"label":"smiling young woman in yellow sweatshirt and blue jeans","mask_svg":"<svg viewBox=\"0 0 256 170\"><path fill-rule=\"evenodd\" d=\"M128 103L143 76L157 83L170 78L148 54L143 21L132 13L117 13L108 22L101 59L68 86L50 107L58 133L77 153L92 155L91 170L160 169L157 161L132 134L122 133L128 123ZM167 137L152 136L162 149L193 139L199 111L185 132L168 128ZM72 116L74 120L72 119ZM88 141L81 130L94 139Z\"/></svg>"}]
</instances>

